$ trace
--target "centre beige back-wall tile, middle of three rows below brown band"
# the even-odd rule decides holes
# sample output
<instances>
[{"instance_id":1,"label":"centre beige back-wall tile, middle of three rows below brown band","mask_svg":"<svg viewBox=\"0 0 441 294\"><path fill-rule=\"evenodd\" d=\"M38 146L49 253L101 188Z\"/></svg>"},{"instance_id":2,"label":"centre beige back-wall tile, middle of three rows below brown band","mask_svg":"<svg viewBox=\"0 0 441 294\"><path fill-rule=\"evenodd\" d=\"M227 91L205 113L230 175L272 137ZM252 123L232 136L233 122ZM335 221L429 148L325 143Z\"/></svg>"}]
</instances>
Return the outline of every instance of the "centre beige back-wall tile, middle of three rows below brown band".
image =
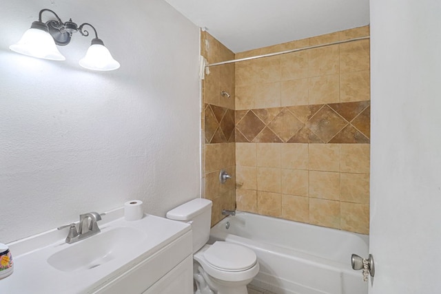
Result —
<instances>
[{"instance_id":1,"label":"centre beige back-wall tile, middle of three rows below brown band","mask_svg":"<svg viewBox=\"0 0 441 294\"><path fill-rule=\"evenodd\" d=\"M282 193L295 196L308 196L308 171L300 169L281 169Z\"/></svg>"}]
</instances>

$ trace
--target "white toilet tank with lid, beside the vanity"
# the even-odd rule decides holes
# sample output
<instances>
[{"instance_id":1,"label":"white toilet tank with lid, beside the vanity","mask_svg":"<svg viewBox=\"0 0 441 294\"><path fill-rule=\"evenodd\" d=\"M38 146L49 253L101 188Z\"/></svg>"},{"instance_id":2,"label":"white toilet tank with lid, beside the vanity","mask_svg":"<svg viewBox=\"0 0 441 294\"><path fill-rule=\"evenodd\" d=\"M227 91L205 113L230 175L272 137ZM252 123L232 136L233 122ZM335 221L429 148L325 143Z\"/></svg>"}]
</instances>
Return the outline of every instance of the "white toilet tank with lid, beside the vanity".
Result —
<instances>
[{"instance_id":1,"label":"white toilet tank with lid, beside the vanity","mask_svg":"<svg viewBox=\"0 0 441 294\"><path fill-rule=\"evenodd\" d=\"M212 201L197 198L167 212L170 220L179 220L192 225L193 253L204 246L209 239L212 222Z\"/></svg>"}]
</instances>

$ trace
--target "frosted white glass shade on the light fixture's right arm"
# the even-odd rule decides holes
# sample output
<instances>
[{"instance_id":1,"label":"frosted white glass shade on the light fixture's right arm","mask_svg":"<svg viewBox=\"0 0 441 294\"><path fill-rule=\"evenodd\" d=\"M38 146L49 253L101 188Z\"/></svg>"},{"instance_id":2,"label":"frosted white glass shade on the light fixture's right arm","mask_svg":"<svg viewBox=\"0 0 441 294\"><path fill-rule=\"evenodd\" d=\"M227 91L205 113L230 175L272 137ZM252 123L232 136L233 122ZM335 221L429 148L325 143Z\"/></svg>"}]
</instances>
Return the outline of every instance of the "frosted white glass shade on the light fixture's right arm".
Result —
<instances>
[{"instance_id":1,"label":"frosted white glass shade on the light fixture's right arm","mask_svg":"<svg viewBox=\"0 0 441 294\"><path fill-rule=\"evenodd\" d=\"M102 43L102 41L100 43ZM90 45L83 59L79 61L79 64L88 70L107 71L118 69L120 66L119 62L114 60L109 50L100 43L94 43L94 41L92 41L92 45Z\"/></svg>"}]
</instances>

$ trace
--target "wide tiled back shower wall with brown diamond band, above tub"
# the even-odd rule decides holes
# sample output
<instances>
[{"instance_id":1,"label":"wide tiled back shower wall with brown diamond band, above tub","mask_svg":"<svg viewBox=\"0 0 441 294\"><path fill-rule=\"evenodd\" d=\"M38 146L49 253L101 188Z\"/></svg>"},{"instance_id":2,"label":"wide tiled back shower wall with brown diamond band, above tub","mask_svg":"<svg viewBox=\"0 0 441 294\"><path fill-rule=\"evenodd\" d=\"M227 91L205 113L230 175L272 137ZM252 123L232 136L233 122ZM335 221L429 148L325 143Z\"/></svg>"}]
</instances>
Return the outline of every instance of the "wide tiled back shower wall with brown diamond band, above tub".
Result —
<instances>
[{"instance_id":1,"label":"wide tiled back shower wall with brown diamond band, above tub","mask_svg":"<svg viewBox=\"0 0 441 294\"><path fill-rule=\"evenodd\" d=\"M236 54L368 36L369 27ZM236 63L237 209L369 233L369 40Z\"/></svg>"}]
</instances>

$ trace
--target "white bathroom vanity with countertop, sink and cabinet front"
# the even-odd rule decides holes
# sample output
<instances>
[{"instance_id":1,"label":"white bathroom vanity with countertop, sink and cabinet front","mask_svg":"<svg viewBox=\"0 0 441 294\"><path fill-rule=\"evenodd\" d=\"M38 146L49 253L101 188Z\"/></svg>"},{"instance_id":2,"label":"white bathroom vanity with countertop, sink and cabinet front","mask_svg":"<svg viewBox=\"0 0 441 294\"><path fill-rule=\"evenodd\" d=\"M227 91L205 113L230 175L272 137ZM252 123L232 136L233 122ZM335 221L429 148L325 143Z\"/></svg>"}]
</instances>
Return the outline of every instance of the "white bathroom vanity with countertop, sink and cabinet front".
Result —
<instances>
[{"instance_id":1,"label":"white bathroom vanity with countertop, sink and cabinet front","mask_svg":"<svg viewBox=\"0 0 441 294\"><path fill-rule=\"evenodd\" d=\"M193 293L188 224L146 215L128 222L105 213L100 233L68 244L68 228L9 245L14 272L0 293Z\"/></svg>"}]
</instances>

